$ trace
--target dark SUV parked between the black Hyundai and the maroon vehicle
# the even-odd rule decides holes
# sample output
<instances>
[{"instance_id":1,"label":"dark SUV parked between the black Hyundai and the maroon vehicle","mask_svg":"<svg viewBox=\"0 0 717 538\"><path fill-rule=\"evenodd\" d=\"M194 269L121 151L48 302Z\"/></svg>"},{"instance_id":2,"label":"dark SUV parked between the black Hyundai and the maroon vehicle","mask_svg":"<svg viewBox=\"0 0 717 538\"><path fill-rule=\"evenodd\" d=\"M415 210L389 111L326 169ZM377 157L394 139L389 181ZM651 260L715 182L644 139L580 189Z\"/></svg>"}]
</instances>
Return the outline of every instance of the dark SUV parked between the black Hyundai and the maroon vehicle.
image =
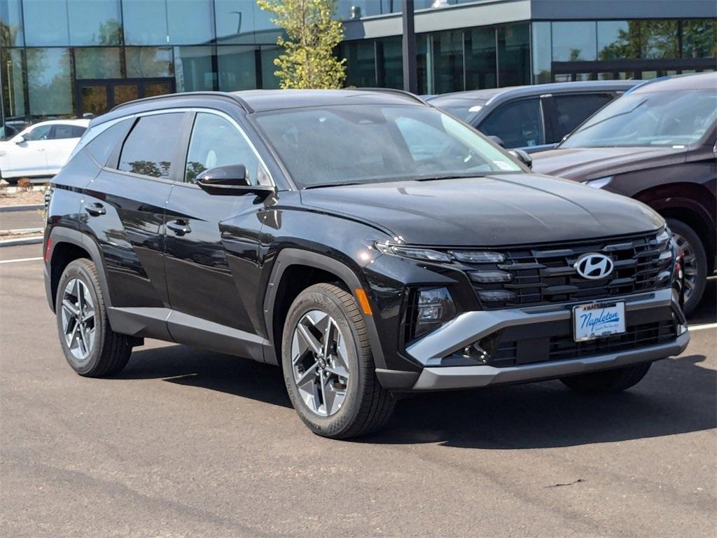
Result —
<instances>
[{"instance_id":1,"label":"dark SUV parked between the black Hyundai and the maroon vehicle","mask_svg":"<svg viewBox=\"0 0 717 538\"><path fill-rule=\"evenodd\" d=\"M532 153L554 147L594 112L640 82L595 80L472 90L436 95L429 103L500 139L505 148Z\"/></svg>"}]
</instances>

